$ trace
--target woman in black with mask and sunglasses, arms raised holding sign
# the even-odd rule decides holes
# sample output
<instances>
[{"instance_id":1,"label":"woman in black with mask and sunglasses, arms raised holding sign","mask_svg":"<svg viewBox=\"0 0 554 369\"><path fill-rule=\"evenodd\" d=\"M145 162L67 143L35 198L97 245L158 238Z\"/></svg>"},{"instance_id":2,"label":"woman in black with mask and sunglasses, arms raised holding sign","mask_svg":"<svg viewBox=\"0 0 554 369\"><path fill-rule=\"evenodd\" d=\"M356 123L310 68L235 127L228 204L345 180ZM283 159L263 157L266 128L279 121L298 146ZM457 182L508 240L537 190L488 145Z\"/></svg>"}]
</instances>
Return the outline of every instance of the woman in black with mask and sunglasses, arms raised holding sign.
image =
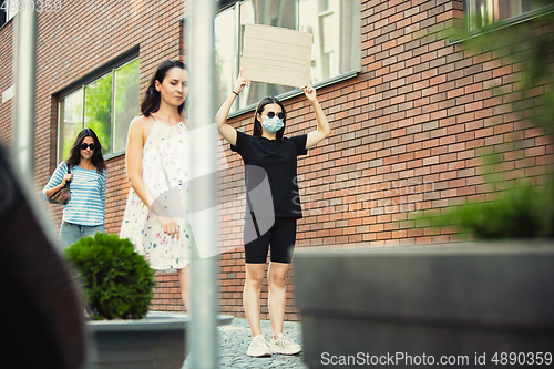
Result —
<instances>
[{"instance_id":1,"label":"woman in black with mask and sunglasses, arms raised holding sign","mask_svg":"<svg viewBox=\"0 0 554 369\"><path fill-rule=\"evenodd\" d=\"M216 115L217 129L232 150L245 163L247 212L245 215L246 281L243 301L252 329L247 355L266 357L273 353L295 355L301 346L283 335L285 318L286 277L296 242L296 222L302 217L298 197L297 156L326 139L331 130L319 105L316 90L305 85L302 91L316 113L317 130L308 134L284 137L286 112L275 98L265 98L256 107L253 135L236 131L227 124L233 102L249 85L240 71L233 91ZM264 195L264 183L268 192ZM269 193L270 191L270 193ZM260 195L261 194L261 195ZM269 214L271 213L271 214ZM260 294L267 253L271 247L268 269L268 308L273 337L267 344L259 324Z\"/></svg>"}]
</instances>

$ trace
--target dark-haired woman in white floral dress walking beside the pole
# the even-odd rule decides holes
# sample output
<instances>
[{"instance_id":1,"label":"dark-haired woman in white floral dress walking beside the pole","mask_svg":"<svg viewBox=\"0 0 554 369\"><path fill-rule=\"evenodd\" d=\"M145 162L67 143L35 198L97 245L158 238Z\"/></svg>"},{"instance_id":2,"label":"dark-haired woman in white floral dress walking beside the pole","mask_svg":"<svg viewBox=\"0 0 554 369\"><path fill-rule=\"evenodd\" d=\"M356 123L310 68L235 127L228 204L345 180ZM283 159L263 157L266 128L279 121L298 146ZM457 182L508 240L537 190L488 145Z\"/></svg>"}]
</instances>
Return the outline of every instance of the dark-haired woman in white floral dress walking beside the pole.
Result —
<instances>
[{"instance_id":1,"label":"dark-haired woman in white floral dress walking beside the pole","mask_svg":"<svg viewBox=\"0 0 554 369\"><path fill-rule=\"evenodd\" d=\"M131 184L120 237L129 238L152 268L177 269L188 309L192 232L186 217L186 125L182 121L188 73L167 60L154 73L130 125L125 167Z\"/></svg>"}]
</instances>

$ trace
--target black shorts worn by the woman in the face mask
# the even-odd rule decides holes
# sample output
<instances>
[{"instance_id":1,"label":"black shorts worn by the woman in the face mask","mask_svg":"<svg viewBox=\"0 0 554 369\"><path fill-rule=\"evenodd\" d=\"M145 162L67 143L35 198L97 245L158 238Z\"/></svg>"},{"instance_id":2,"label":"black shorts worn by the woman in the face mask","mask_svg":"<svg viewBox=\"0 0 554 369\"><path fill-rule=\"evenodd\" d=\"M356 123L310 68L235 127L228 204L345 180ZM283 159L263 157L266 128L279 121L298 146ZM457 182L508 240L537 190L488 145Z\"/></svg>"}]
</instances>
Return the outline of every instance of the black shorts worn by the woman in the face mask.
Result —
<instances>
[{"instance_id":1,"label":"black shorts worn by the woman in the face mask","mask_svg":"<svg viewBox=\"0 0 554 369\"><path fill-rule=\"evenodd\" d=\"M244 236L256 234L253 219L245 219ZM246 263L260 264L267 260L271 245L271 262L290 263L296 242L296 218L275 218L271 228L264 235L245 244Z\"/></svg>"}]
</instances>

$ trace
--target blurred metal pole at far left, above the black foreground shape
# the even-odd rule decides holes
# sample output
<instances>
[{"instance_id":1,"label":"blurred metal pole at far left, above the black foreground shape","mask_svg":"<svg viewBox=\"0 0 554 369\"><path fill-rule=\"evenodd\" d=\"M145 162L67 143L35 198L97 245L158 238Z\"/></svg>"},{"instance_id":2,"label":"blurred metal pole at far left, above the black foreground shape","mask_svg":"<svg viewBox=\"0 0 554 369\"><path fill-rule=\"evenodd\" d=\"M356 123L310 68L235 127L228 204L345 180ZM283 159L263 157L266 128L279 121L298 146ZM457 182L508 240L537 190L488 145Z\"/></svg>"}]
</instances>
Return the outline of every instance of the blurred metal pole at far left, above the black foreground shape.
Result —
<instances>
[{"instance_id":1,"label":"blurred metal pole at far left, above the black foreground shape","mask_svg":"<svg viewBox=\"0 0 554 369\"><path fill-rule=\"evenodd\" d=\"M34 8L33 8L34 9ZM25 181L34 183L34 85L37 66L37 12L16 14L12 160Z\"/></svg>"}]
</instances>

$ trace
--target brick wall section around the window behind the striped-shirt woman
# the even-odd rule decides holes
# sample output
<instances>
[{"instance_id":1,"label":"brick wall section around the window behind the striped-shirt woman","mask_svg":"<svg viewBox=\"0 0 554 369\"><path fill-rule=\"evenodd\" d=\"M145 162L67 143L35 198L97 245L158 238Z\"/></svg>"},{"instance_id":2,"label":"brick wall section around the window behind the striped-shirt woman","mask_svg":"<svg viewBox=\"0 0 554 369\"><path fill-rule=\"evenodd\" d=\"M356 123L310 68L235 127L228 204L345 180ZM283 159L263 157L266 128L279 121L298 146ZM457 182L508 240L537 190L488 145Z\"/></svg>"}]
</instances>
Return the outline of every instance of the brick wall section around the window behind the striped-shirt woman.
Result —
<instances>
[{"instance_id":1,"label":"brick wall section around the window behind the striped-shirt woman","mask_svg":"<svg viewBox=\"0 0 554 369\"><path fill-rule=\"evenodd\" d=\"M57 102L52 95L117 55L140 47L141 93L155 68L179 55L182 4L178 1L63 2L60 12L39 16L37 48L37 187L55 168ZM124 157L107 161L106 224L117 233L126 199ZM62 208L49 205L53 225Z\"/></svg>"}]
</instances>

